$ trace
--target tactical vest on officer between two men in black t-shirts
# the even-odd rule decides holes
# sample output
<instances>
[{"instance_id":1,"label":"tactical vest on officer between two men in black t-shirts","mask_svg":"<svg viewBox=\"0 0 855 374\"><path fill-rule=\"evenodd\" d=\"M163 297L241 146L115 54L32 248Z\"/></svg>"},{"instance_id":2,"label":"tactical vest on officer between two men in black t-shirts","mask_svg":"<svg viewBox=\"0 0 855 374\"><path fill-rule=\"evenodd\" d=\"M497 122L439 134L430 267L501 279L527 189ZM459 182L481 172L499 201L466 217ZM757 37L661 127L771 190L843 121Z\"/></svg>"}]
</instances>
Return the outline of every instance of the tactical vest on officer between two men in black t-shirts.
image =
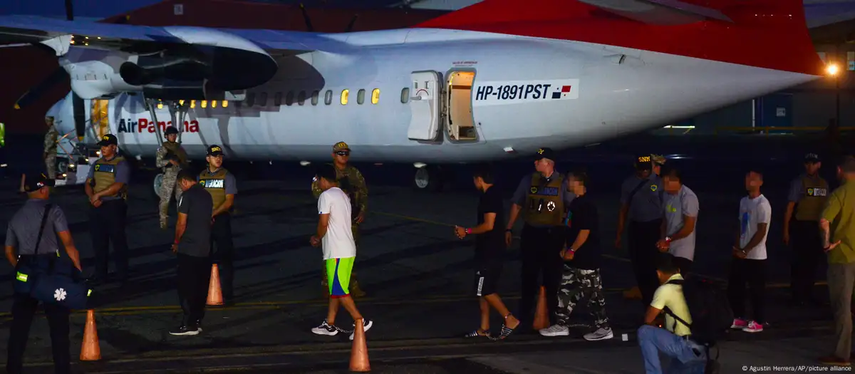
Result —
<instances>
[{"instance_id":1,"label":"tactical vest on officer between two men in black t-shirts","mask_svg":"<svg viewBox=\"0 0 855 374\"><path fill-rule=\"evenodd\" d=\"M564 216L564 202L561 189L564 178L557 172L547 182L546 178L535 172L528 189L528 209L526 223L529 225L561 225Z\"/></svg>"}]
</instances>

